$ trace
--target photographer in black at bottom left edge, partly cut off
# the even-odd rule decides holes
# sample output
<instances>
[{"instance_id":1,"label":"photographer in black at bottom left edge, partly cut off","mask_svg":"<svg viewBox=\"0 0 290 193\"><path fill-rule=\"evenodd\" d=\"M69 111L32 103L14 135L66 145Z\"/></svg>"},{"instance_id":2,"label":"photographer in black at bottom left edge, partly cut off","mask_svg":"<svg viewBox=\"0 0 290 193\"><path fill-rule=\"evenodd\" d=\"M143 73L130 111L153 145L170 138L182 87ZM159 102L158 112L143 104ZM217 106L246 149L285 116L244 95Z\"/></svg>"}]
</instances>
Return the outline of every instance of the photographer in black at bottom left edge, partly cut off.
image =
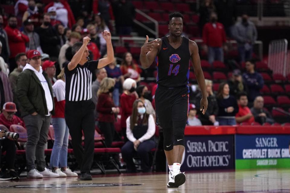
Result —
<instances>
[{"instance_id":1,"label":"photographer in black at bottom left edge, partly cut off","mask_svg":"<svg viewBox=\"0 0 290 193\"><path fill-rule=\"evenodd\" d=\"M14 161L16 156L16 146L14 140L10 137L5 137L5 131L8 131L7 128L0 130L0 166L1 166L1 155L2 152L6 151L6 163L3 167L3 171L0 167L0 180L18 180L19 175L14 171ZM4 139L3 139L4 138ZM5 169L5 170L4 170Z\"/></svg>"}]
</instances>

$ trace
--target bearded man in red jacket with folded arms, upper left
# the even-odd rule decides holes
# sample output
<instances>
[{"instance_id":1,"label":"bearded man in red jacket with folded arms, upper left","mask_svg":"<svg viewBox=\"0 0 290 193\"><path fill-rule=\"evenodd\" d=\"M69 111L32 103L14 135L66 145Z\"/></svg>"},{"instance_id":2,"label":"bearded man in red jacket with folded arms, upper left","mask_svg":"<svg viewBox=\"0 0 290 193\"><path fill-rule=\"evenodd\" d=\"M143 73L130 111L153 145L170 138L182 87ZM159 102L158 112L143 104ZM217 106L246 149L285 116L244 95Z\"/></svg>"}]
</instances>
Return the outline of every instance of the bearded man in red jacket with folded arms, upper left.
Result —
<instances>
[{"instance_id":1,"label":"bearded man in red jacket with folded arms, upper left","mask_svg":"<svg viewBox=\"0 0 290 193\"><path fill-rule=\"evenodd\" d=\"M15 56L21 52L25 53L25 43L29 42L29 37L22 34L17 29L17 18L15 16L11 16L8 19L8 25L5 27L5 31L8 35L8 43L10 47L9 69L10 72L12 72L14 68L17 67Z\"/></svg>"}]
</instances>

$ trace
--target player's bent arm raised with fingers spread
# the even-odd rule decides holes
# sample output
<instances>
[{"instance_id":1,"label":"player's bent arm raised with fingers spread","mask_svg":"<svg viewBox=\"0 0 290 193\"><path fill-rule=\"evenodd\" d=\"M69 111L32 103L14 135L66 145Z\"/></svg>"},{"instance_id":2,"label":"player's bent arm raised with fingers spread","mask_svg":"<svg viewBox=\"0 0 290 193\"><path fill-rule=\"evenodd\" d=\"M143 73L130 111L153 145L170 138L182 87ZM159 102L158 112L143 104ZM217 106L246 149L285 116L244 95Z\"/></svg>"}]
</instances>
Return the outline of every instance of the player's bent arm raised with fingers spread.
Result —
<instances>
[{"instance_id":1,"label":"player's bent arm raised with fingers spread","mask_svg":"<svg viewBox=\"0 0 290 193\"><path fill-rule=\"evenodd\" d=\"M149 37L146 36L145 43L141 47L140 62L142 68L149 68L149 66L153 63L162 42L161 39L156 39L150 42L148 42L148 40Z\"/></svg>"}]
</instances>

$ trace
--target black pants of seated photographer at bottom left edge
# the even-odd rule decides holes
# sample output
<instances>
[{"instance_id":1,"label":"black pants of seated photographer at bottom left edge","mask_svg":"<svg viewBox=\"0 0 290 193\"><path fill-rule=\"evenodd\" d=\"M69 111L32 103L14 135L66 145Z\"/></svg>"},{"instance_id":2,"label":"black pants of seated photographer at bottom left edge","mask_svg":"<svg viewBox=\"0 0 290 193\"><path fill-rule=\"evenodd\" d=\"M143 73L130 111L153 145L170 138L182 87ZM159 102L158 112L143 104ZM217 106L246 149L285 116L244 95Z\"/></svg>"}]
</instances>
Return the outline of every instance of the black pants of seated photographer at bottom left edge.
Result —
<instances>
[{"instance_id":1,"label":"black pants of seated photographer at bottom left edge","mask_svg":"<svg viewBox=\"0 0 290 193\"><path fill-rule=\"evenodd\" d=\"M0 140L0 166L2 152L6 151L6 164L5 169L14 169L14 161L16 156L15 142L9 139Z\"/></svg>"}]
</instances>

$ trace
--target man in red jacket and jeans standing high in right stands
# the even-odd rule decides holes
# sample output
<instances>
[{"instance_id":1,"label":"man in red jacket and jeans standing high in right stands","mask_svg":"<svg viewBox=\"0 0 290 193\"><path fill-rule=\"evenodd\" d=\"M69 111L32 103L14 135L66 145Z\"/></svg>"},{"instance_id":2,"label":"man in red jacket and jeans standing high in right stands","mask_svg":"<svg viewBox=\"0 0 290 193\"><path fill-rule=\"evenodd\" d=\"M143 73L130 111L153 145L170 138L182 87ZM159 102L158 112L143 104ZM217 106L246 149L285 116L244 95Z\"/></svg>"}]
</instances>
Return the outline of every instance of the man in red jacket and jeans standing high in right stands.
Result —
<instances>
[{"instance_id":1,"label":"man in red jacket and jeans standing high in right stands","mask_svg":"<svg viewBox=\"0 0 290 193\"><path fill-rule=\"evenodd\" d=\"M205 43L204 49L208 52L208 62L214 60L224 62L223 43L226 42L226 32L223 24L217 22L218 16L215 12L211 13L210 22L205 24L202 30L202 39ZM227 47L224 46L226 50Z\"/></svg>"}]
</instances>

